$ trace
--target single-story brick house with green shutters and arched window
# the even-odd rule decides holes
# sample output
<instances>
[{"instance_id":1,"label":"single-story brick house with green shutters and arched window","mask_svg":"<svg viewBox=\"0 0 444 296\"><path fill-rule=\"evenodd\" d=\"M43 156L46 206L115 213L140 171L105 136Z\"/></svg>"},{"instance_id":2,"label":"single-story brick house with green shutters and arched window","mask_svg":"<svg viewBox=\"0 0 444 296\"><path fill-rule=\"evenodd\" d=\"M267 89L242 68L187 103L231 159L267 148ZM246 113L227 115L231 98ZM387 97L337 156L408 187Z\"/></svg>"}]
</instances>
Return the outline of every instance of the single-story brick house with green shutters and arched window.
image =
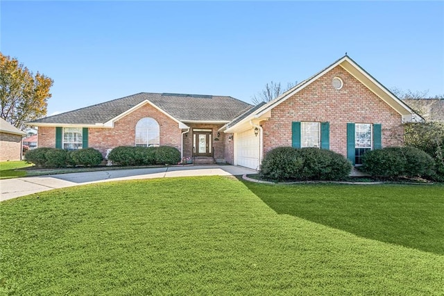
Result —
<instances>
[{"instance_id":1,"label":"single-story brick house with green shutters and arched window","mask_svg":"<svg viewBox=\"0 0 444 296\"><path fill-rule=\"evenodd\" d=\"M268 103L232 97L139 93L45 117L39 147L103 154L121 145L176 147L183 157L258 169L275 147L319 147L353 164L370 149L402 145L405 122L422 117L343 56Z\"/></svg>"}]
</instances>

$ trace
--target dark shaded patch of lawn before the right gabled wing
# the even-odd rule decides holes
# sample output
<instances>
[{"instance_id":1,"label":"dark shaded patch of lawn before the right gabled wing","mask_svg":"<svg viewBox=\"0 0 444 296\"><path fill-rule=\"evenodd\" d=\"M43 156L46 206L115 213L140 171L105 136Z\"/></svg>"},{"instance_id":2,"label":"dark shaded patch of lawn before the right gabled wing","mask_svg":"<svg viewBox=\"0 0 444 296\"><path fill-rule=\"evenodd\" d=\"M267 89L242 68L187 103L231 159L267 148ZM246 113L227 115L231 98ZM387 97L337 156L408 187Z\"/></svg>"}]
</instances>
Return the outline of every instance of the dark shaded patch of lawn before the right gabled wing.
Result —
<instances>
[{"instance_id":1,"label":"dark shaded patch of lawn before the right gabled wing","mask_svg":"<svg viewBox=\"0 0 444 296\"><path fill-rule=\"evenodd\" d=\"M444 254L444 186L243 183L278 214Z\"/></svg>"}]
</instances>

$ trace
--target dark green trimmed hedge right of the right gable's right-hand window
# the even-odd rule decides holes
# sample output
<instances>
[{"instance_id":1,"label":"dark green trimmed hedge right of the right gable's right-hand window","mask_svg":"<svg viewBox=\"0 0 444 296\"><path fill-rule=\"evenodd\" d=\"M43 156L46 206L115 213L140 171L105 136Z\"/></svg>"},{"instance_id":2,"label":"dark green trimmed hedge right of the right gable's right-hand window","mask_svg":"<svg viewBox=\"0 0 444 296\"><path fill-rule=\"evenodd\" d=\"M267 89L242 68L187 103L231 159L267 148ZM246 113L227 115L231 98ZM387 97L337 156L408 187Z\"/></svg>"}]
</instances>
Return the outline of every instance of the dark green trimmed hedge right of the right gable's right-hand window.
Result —
<instances>
[{"instance_id":1,"label":"dark green trimmed hedge right of the right gable's right-hand window","mask_svg":"<svg viewBox=\"0 0 444 296\"><path fill-rule=\"evenodd\" d=\"M361 170L386 178L431 177L436 174L432 156L414 147L386 147L366 152Z\"/></svg>"}]
</instances>

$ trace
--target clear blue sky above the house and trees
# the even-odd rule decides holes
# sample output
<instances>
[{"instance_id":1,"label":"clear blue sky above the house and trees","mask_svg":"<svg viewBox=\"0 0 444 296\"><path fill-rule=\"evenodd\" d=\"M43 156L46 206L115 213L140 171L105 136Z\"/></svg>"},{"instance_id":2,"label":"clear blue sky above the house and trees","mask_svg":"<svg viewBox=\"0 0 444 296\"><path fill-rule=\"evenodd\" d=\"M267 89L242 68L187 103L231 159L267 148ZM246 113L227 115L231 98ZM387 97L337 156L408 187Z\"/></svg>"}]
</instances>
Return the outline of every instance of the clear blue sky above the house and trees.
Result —
<instances>
[{"instance_id":1,"label":"clear blue sky above the house and trees","mask_svg":"<svg viewBox=\"0 0 444 296\"><path fill-rule=\"evenodd\" d=\"M444 2L0 1L0 50L54 80L48 114L138 92L250 102L348 52L387 88L444 94Z\"/></svg>"}]
</instances>

